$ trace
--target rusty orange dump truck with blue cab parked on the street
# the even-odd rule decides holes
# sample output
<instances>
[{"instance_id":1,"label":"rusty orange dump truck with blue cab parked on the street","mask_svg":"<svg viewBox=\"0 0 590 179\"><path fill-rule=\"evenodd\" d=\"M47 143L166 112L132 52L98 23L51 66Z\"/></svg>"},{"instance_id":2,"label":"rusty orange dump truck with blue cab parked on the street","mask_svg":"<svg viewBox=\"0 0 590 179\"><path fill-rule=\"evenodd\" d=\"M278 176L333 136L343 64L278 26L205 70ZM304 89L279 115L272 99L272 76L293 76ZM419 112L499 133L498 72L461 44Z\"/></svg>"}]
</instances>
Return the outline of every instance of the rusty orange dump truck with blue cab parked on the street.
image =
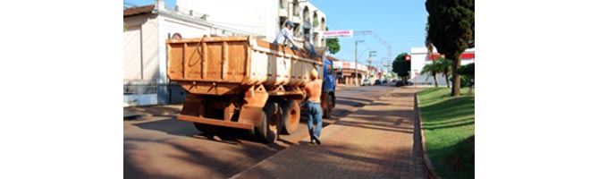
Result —
<instances>
[{"instance_id":1,"label":"rusty orange dump truck with blue cab parked on the street","mask_svg":"<svg viewBox=\"0 0 590 179\"><path fill-rule=\"evenodd\" d=\"M166 47L168 78L187 90L177 119L199 131L245 129L264 142L295 132L302 90L313 69L325 79L325 117L335 107L332 62L325 62L325 49L310 58L251 36L167 39Z\"/></svg>"}]
</instances>

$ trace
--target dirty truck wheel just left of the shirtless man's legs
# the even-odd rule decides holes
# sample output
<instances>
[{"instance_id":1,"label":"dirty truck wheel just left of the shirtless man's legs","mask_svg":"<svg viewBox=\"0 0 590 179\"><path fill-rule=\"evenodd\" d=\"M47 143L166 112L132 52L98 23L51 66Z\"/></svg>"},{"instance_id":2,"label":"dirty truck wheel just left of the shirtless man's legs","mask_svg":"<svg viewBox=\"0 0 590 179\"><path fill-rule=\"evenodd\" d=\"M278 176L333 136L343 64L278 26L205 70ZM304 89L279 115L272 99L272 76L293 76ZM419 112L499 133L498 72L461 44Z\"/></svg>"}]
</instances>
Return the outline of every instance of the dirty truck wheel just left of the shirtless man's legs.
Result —
<instances>
[{"instance_id":1,"label":"dirty truck wheel just left of the shirtless man's legs","mask_svg":"<svg viewBox=\"0 0 590 179\"><path fill-rule=\"evenodd\" d=\"M282 125L284 126L282 133L292 134L297 130L297 127L299 127L299 119L301 116L299 104L297 104L295 100L290 99L282 103L281 108Z\"/></svg>"}]
</instances>

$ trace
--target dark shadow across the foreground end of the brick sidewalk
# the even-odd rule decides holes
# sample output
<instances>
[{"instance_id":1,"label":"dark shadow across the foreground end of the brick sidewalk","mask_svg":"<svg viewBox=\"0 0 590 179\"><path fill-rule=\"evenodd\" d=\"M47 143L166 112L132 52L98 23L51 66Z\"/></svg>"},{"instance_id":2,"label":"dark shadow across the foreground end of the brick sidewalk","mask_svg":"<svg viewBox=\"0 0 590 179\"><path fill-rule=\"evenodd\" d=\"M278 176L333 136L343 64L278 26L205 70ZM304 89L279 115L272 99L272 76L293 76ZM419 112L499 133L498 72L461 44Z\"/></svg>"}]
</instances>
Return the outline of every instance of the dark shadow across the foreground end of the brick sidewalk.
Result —
<instances>
[{"instance_id":1,"label":"dark shadow across the foreground end of the brick sidewalk","mask_svg":"<svg viewBox=\"0 0 590 179\"><path fill-rule=\"evenodd\" d=\"M412 166L412 161L408 159L410 152L409 149L358 149L358 146L334 145L330 141L321 145L299 141L299 145L265 160L261 166L250 168L240 177L272 178L280 175L278 178L301 178L302 175L314 175L315 178L412 178L412 174L407 172L408 167ZM266 169L269 166L273 166L273 169ZM340 176L334 176L337 174Z\"/></svg>"}]
</instances>

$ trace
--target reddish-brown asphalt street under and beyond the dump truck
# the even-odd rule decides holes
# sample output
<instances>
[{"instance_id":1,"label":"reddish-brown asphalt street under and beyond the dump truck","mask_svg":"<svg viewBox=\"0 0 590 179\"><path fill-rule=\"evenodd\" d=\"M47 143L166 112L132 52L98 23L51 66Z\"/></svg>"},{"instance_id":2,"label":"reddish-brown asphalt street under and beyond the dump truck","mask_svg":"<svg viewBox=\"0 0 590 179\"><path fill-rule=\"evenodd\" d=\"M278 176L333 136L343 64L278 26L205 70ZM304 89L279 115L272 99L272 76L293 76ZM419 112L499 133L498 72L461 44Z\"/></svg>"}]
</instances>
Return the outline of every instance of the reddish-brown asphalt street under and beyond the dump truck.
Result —
<instances>
[{"instance_id":1,"label":"reddish-brown asphalt street under and beyond the dump truck","mask_svg":"<svg viewBox=\"0 0 590 179\"><path fill-rule=\"evenodd\" d=\"M325 126L392 90L390 86L344 87L336 91L336 108ZM199 132L192 123L176 120L181 105L131 107L151 114L123 122L124 178L228 178L274 153L308 139L302 117L297 132L265 144L249 132L228 130L221 135ZM302 115L303 116L303 115Z\"/></svg>"}]
</instances>

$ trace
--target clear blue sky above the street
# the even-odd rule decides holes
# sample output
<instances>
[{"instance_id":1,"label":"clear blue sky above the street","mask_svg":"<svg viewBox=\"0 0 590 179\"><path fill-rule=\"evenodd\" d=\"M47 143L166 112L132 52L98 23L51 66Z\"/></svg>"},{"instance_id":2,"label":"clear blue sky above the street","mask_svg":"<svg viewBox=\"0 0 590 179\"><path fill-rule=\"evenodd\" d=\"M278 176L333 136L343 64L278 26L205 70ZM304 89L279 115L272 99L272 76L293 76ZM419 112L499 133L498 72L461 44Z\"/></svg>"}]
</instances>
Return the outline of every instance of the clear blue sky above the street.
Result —
<instances>
[{"instance_id":1,"label":"clear blue sky above the street","mask_svg":"<svg viewBox=\"0 0 590 179\"><path fill-rule=\"evenodd\" d=\"M154 0L124 0L128 4L154 4ZM426 27L426 0L310 0L326 14L330 30L370 30L392 47L392 59L400 53L409 53L410 47L424 47ZM176 0L165 0L173 7ZM358 63L368 64L369 51L376 51L373 62L387 58L387 47L375 36L364 35L340 38L341 50L336 58L354 62L354 41L358 44ZM385 63L385 62L384 62Z\"/></svg>"}]
</instances>

